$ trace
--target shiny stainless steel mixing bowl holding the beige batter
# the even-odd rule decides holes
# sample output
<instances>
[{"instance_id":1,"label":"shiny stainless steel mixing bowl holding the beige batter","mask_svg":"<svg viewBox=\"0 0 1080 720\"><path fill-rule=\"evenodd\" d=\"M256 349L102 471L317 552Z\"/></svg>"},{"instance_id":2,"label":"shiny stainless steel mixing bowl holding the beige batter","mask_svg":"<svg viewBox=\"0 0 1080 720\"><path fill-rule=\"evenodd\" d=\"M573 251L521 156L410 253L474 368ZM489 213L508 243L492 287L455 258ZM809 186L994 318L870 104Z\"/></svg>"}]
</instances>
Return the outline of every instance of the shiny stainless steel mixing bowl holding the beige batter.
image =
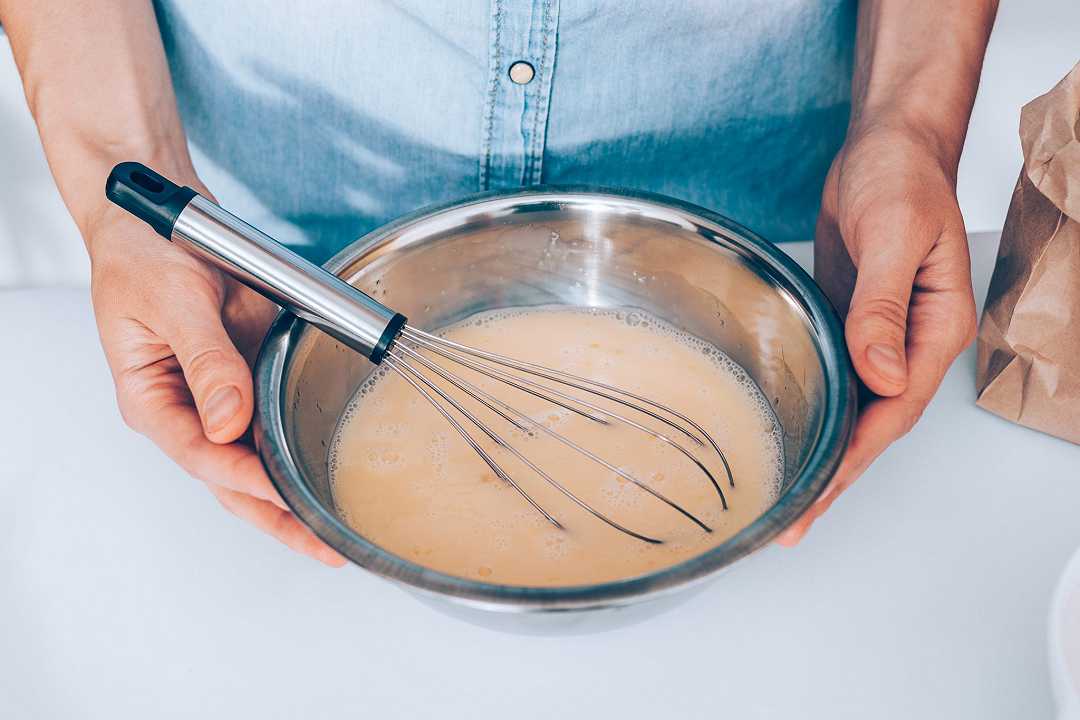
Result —
<instances>
[{"instance_id":1,"label":"shiny stainless steel mixing bowl holding the beige batter","mask_svg":"<svg viewBox=\"0 0 1080 720\"><path fill-rule=\"evenodd\" d=\"M279 492L345 557L426 599L449 601L467 619L475 620L476 609L549 611L518 612L510 621L528 629L555 615L566 625L603 614L550 611L607 609L618 622L656 611L663 603L642 601L700 584L799 517L825 488L847 446L854 383L828 301L783 252L700 207L579 188L489 193L376 230L327 267L423 329L496 308L646 310L746 368L783 426L785 477L778 501L714 549L647 575L595 585L536 588L464 580L372 544L338 516L327 448L373 366L294 316L281 315L255 372L255 438ZM635 609L626 610L630 606ZM503 622L494 613L478 614L485 624Z\"/></svg>"}]
</instances>

